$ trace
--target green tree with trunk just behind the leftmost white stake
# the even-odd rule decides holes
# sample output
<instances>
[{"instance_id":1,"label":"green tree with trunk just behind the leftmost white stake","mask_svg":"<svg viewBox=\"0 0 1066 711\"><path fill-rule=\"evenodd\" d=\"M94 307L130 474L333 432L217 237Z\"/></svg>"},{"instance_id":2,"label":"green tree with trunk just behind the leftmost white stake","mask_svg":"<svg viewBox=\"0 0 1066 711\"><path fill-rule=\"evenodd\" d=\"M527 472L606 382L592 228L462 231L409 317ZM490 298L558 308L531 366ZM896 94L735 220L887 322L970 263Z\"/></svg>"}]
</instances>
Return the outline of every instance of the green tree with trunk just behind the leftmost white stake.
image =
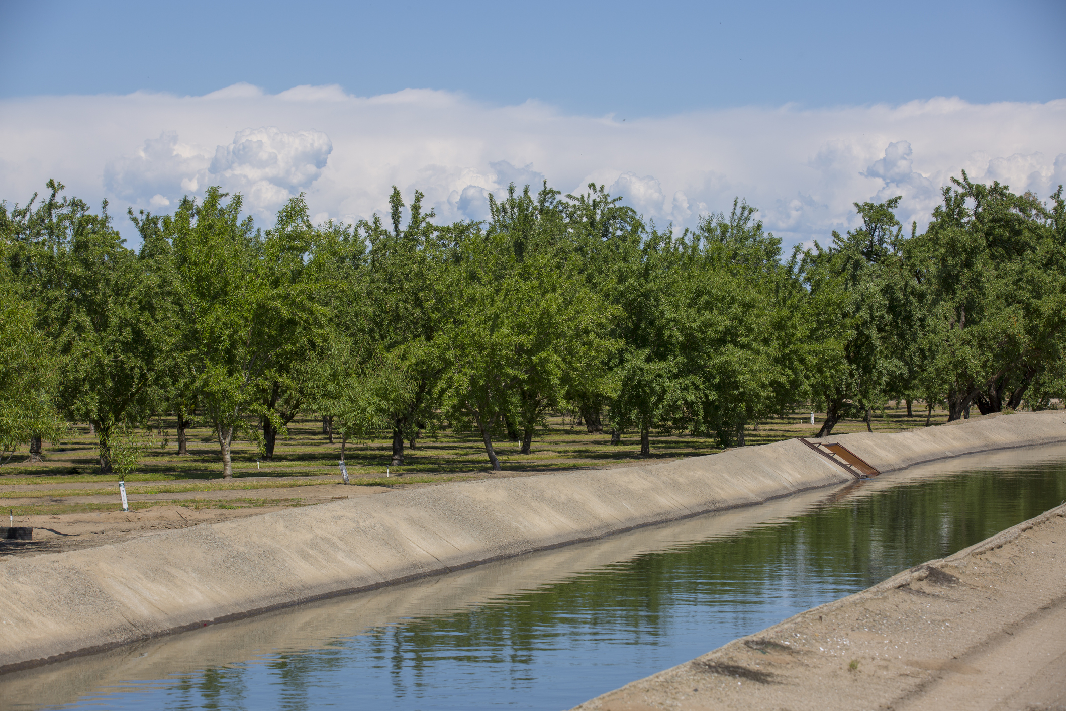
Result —
<instances>
[{"instance_id":1,"label":"green tree with trunk just behind the leftmost white stake","mask_svg":"<svg viewBox=\"0 0 1066 711\"><path fill-rule=\"evenodd\" d=\"M113 429L144 421L158 399L172 308L151 260L123 246L107 203L96 215L61 197L62 183L48 188L38 207L16 206L4 220L9 265L39 305L37 328L58 355L54 401L68 419L95 426L107 473Z\"/></svg>"}]
</instances>

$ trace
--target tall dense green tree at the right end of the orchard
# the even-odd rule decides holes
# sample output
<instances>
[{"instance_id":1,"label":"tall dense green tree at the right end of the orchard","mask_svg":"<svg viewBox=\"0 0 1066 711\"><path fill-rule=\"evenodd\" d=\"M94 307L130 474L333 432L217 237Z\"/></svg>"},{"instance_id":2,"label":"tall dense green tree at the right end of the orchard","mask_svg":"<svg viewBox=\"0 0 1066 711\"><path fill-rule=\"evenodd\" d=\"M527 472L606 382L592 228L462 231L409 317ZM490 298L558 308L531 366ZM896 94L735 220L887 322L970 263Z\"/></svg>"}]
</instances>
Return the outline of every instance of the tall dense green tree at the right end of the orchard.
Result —
<instances>
[{"instance_id":1,"label":"tall dense green tree at the right end of the orchard","mask_svg":"<svg viewBox=\"0 0 1066 711\"><path fill-rule=\"evenodd\" d=\"M974 403L982 413L1018 407L1062 360L1061 191L1052 203L973 183L964 172L916 238L931 289L925 378L947 400L950 420Z\"/></svg>"}]
</instances>

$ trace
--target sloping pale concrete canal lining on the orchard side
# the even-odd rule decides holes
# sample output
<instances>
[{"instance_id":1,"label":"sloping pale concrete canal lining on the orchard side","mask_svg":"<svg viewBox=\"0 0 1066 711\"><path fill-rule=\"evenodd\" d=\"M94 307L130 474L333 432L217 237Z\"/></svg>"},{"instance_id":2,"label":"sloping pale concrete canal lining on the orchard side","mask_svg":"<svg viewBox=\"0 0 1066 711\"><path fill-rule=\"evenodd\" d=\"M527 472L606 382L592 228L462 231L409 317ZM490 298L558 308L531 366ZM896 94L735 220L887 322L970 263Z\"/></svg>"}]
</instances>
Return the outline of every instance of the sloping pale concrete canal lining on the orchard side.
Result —
<instances>
[{"instance_id":1,"label":"sloping pale concrete canal lining on the orchard side","mask_svg":"<svg viewBox=\"0 0 1066 711\"><path fill-rule=\"evenodd\" d=\"M1017 414L827 440L884 473L1066 441L1066 417ZM646 467L391 491L11 559L0 565L0 672L851 479L787 440Z\"/></svg>"}]
</instances>

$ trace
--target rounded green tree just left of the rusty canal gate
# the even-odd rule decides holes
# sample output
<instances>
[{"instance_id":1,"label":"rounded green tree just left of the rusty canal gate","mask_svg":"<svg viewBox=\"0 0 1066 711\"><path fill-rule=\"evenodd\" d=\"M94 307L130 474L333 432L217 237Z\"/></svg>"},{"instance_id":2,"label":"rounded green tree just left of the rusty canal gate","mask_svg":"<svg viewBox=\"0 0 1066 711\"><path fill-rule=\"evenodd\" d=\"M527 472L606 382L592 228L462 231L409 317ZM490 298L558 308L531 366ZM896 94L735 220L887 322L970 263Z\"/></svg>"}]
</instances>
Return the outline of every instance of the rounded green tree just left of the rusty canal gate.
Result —
<instances>
[{"instance_id":1,"label":"rounded green tree just left of the rusty canal gate","mask_svg":"<svg viewBox=\"0 0 1066 711\"><path fill-rule=\"evenodd\" d=\"M805 394L806 293L796 256L780 261L780 240L763 231L755 208L733 200L699 221L683 260L687 274L681 372L694 432L744 445L744 427L778 415Z\"/></svg>"}]
</instances>

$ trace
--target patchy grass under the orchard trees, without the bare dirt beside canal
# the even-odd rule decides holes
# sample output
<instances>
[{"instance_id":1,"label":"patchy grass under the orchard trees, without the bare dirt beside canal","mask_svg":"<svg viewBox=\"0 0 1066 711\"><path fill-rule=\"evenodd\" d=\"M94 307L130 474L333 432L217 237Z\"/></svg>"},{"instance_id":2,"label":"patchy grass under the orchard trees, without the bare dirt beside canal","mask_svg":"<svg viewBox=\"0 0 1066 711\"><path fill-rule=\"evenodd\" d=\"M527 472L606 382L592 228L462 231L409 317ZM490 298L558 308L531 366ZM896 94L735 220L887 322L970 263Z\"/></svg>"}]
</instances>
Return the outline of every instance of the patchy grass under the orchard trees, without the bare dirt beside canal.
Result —
<instances>
[{"instance_id":1,"label":"patchy grass under the orchard trees, without the bare dirt beside canal","mask_svg":"<svg viewBox=\"0 0 1066 711\"><path fill-rule=\"evenodd\" d=\"M747 445L764 445L790 437L810 437L818 432L811 426L810 416L796 414L784 419L764 421L749 426L745 439ZM947 421L947 413L934 411L932 423ZM906 416L903 406L889 406L883 416L875 416L874 432L901 432L925 424L925 413L915 408L915 417ZM623 437L620 445L611 445L608 433L589 434L583 425L575 423L575 418L555 414L548 420L548 430L538 433L533 441L532 453L519 454L520 442L500 442L498 453L502 474L547 473L577 469L635 465L643 462L669 460L687 456L712 454L721 451L714 439L696 437L683 433L665 434L652 432L651 454L640 454L640 438L634 435ZM258 449L248 441L235 441L233 480L224 481L219 466L219 446L207 427L190 431L189 455L178 456L173 433L174 418L152 420L152 445L142 455L136 471L126 478L127 482L159 482L158 486L138 486L140 494L184 494L191 491L230 491L276 489L298 496L302 486L322 484L322 476L339 478L337 463L340 456L340 439L322 434L321 422L317 418L297 418L288 430L288 436L279 438L273 459L257 462ZM866 423L845 420L837 425L834 434L866 432ZM165 443L165 447L163 445ZM438 483L475 479L491 474L489 463L480 436L475 433L456 434L445 430L436 437L419 438L414 450L408 449L405 465L391 467L391 437L381 432L373 439L350 441L346 447L345 464L349 475L355 484L404 486L410 484ZM46 499L50 497L88 497L113 495L115 474L98 474L96 438L88 434L84 425L75 425L68 436L51 447L45 448L45 459L39 463L9 464L0 469L0 486L13 485L64 485L64 488L37 488L29 491L4 491L2 498L38 497L42 501L39 513L46 513ZM386 468L390 476L386 478ZM243 481L242 481L243 480ZM175 482L167 484L167 482ZM180 483L178 483L180 482ZM70 488L72 483L84 487ZM176 497L175 503L178 503ZM236 500L226 500L227 503ZM256 499L256 501L271 501ZM198 500L199 504L205 502ZM247 505L242 502L241 505ZM272 505L272 504L261 504ZM276 505L276 504L274 504ZM26 506L20 507L27 508ZM91 508L86 508L88 511ZM113 504L100 508L114 510ZM25 511L25 513L31 513ZM51 513L51 512L47 512Z\"/></svg>"}]
</instances>

